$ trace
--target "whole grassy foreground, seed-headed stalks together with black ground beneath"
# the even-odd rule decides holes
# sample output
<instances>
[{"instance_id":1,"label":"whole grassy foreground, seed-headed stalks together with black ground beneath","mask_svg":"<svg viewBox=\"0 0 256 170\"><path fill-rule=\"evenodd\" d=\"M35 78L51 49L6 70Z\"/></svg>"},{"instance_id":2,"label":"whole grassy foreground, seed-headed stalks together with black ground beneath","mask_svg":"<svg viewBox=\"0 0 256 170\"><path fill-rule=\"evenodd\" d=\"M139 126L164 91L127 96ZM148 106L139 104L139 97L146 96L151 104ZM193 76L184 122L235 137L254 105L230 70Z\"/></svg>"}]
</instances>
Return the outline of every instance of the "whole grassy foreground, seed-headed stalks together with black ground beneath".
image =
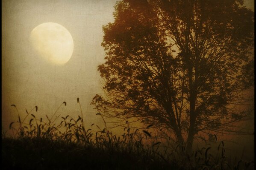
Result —
<instances>
[{"instance_id":1,"label":"whole grassy foreground, seed-headed stalks together with black ground beneath","mask_svg":"<svg viewBox=\"0 0 256 170\"><path fill-rule=\"evenodd\" d=\"M79 98L77 102L80 106ZM65 106L66 102L62 105ZM15 105L12 105L16 108ZM157 140L147 145L153 137L147 130L131 129L129 122L122 136L116 136L106 127L92 124L85 129L82 109L76 119L56 116L46 122L37 119L35 106L21 120L12 122L9 130L14 137L7 137L2 130L2 169L26 170L244 170L254 169L253 161L231 161L225 156L224 142L217 148L209 145L188 154L182 144L173 149ZM100 113L105 122L103 116ZM58 119L59 118L59 119ZM56 120L60 123L56 123ZM16 126L15 126L16 124ZM97 130L93 130L97 129ZM217 137L215 136L216 141ZM159 148L162 149L159 149ZM161 150L161 151L160 151ZM214 151L214 152L213 152Z\"/></svg>"}]
</instances>

